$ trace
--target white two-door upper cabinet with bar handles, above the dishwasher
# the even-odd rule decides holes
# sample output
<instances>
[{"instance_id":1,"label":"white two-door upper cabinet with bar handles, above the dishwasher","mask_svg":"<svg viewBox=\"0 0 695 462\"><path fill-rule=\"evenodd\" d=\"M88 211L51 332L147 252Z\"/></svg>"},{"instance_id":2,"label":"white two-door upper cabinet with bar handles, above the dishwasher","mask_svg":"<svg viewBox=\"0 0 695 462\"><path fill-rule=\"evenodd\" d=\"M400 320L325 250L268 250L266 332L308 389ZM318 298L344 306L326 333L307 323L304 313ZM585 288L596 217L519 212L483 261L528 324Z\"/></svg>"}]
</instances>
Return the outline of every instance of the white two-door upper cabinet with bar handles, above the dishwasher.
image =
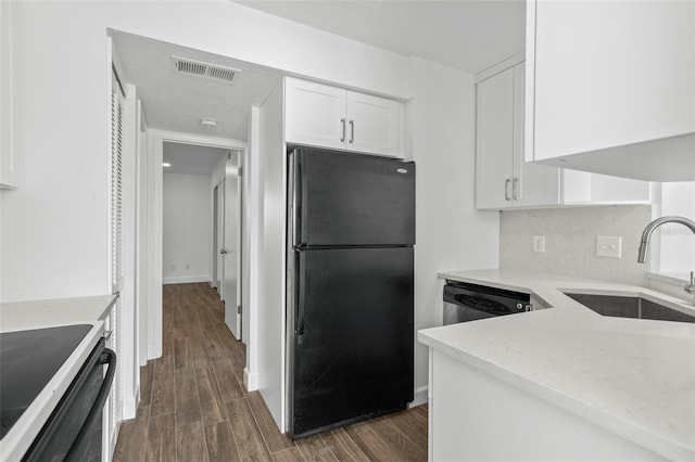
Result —
<instances>
[{"instance_id":1,"label":"white two-door upper cabinet with bar handles, above the dishwasher","mask_svg":"<svg viewBox=\"0 0 695 462\"><path fill-rule=\"evenodd\" d=\"M478 82L478 208L559 204L559 169L523 162L523 63Z\"/></svg>"}]
</instances>

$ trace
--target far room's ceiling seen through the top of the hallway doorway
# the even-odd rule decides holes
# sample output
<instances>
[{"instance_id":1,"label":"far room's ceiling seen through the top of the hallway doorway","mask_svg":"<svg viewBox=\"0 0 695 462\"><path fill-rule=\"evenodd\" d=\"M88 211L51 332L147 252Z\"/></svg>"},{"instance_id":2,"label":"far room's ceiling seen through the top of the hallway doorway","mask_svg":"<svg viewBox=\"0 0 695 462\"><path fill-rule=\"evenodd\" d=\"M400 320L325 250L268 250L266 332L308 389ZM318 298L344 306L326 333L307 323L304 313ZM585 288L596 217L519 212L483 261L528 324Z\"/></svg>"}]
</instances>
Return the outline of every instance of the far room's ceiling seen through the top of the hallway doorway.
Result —
<instances>
[{"instance_id":1,"label":"far room's ceiling seen through the top of the hallway doorway","mask_svg":"<svg viewBox=\"0 0 695 462\"><path fill-rule=\"evenodd\" d=\"M220 147L164 142L163 162L172 164L164 167L164 172L210 175L228 152Z\"/></svg>"}]
</instances>

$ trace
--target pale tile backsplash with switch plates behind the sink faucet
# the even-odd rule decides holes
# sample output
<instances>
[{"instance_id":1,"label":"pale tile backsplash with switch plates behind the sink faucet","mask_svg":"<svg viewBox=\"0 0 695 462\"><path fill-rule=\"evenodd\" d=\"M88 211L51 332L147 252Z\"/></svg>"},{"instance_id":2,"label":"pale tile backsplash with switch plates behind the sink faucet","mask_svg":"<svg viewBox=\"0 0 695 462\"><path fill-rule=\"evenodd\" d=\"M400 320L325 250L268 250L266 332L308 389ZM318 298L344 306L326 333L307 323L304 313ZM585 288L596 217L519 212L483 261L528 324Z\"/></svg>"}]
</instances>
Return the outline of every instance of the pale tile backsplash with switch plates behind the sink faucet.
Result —
<instances>
[{"instance_id":1,"label":"pale tile backsplash with switch plates behind the sink faucet","mask_svg":"<svg viewBox=\"0 0 695 462\"><path fill-rule=\"evenodd\" d=\"M637 264L650 205L502 211L500 268L647 285L648 266ZM533 252L533 235L545 235L545 253ZM622 257L595 255L596 236L622 238Z\"/></svg>"}]
</instances>

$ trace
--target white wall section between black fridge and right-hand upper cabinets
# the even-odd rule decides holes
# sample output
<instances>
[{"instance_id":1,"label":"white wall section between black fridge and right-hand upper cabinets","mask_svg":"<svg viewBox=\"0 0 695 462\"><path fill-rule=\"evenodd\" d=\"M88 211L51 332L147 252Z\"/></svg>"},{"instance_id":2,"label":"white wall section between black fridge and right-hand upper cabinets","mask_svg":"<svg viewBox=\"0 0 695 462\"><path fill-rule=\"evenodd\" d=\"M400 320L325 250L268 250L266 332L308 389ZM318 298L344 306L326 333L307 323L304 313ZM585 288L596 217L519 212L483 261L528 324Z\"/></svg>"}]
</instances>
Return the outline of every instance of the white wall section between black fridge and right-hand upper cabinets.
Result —
<instances>
[{"instance_id":1,"label":"white wall section between black fridge and right-hand upper cabinets","mask_svg":"<svg viewBox=\"0 0 695 462\"><path fill-rule=\"evenodd\" d=\"M409 156L416 162L415 330L442 324L437 273L497 266L498 214L475 206L473 76L410 59L406 107ZM416 343L416 402L425 402L428 348Z\"/></svg>"}]
</instances>

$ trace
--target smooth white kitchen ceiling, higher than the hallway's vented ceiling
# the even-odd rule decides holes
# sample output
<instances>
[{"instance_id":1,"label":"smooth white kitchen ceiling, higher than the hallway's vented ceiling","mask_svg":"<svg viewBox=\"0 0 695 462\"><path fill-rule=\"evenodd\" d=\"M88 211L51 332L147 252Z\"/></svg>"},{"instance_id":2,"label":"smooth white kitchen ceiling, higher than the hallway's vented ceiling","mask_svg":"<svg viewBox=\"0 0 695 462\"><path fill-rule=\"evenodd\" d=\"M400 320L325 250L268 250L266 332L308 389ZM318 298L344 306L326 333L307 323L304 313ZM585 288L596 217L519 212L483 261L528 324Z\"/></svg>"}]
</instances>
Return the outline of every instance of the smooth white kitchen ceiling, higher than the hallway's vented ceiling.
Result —
<instances>
[{"instance_id":1,"label":"smooth white kitchen ceiling, higher than the hallway's vented ceiling","mask_svg":"<svg viewBox=\"0 0 695 462\"><path fill-rule=\"evenodd\" d=\"M525 48L525 0L235 2L471 74Z\"/></svg>"}]
</instances>

